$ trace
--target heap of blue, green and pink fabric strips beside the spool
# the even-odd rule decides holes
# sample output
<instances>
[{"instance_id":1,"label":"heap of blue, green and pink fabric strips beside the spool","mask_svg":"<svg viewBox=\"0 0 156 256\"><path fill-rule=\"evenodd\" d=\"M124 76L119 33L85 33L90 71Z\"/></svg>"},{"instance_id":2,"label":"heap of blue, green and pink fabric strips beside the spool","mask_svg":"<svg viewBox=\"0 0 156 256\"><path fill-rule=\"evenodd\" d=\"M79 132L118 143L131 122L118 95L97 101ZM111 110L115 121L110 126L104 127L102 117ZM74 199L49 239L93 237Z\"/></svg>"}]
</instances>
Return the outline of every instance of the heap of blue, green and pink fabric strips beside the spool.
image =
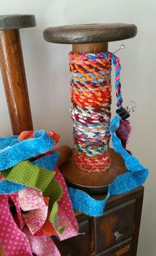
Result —
<instances>
[{"instance_id":1,"label":"heap of blue, green and pink fabric strips beside the spool","mask_svg":"<svg viewBox=\"0 0 156 256\"><path fill-rule=\"evenodd\" d=\"M78 234L71 200L56 162L59 135L24 131L0 138L2 255L60 256L50 238Z\"/></svg>"}]
</instances>

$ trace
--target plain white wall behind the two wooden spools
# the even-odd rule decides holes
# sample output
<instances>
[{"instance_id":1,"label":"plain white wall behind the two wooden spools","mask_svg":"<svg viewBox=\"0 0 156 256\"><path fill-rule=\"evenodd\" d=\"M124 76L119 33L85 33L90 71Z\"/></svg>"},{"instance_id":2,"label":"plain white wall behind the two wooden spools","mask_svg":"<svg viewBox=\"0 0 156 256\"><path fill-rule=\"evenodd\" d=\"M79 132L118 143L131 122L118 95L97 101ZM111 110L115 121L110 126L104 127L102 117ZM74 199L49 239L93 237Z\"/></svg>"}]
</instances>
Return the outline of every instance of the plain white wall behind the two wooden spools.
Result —
<instances>
[{"instance_id":1,"label":"plain white wall behind the two wooden spools","mask_svg":"<svg viewBox=\"0 0 156 256\"><path fill-rule=\"evenodd\" d=\"M71 46L50 44L42 36L50 26L77 23L134 23L136 38L125 40L118 52L122 63L125 105L134 100L130 149L151 170L145 184L137 256L156 255L155 205L155 97L156 97L156 1L151 0L0 0L0 15L34 14L37 27L20 31L35 129L54 129L61 143L72 145L69 113L68 52ZM121 42L112 42L114 52ZM0 134L11 134L11 125L0 77ZM114 95L114 91L113 91ZM115 97L112 113L115 112Z\"/></svg>"}]
</instances>

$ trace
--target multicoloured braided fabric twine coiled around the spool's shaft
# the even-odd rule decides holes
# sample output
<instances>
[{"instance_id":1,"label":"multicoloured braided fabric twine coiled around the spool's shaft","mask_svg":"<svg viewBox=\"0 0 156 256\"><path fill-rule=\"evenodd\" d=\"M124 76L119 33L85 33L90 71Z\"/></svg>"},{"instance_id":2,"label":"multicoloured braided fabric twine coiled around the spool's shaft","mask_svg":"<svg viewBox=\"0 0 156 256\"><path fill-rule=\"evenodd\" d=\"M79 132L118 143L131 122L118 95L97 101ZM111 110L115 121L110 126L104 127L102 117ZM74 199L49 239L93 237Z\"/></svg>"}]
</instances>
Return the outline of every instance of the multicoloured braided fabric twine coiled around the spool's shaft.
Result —
<instances>
[{"instance_id":1,"label":"multicoloured braided fabric twine coiled around the spool's shaft","mask_svg":"<svg viewBox=\"0 0 156 256\"><path fill-rule=\"evenodd\" d=\"M69 53L75 163L85 171L110 168L112 54Z\"/></svg>"}]
</instances>

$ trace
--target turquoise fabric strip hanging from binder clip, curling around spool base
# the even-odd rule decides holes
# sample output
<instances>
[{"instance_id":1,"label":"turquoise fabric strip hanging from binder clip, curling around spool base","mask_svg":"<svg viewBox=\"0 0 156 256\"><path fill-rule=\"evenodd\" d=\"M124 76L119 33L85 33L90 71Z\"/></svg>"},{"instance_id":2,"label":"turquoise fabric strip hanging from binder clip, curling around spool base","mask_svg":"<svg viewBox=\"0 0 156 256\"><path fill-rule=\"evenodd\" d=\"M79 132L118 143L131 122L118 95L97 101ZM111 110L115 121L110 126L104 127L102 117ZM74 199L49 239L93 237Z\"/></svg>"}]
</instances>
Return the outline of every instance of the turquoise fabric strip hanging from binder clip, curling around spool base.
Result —
<instances>
[{"instance_id":1,"label":"turquoise fabric strip hanging from binder clip, curling around spool base","mask_svg":"<svg viewBox=\"0 0 156 256\"><path fill-rule=\"evenodd\" d=\"M89 216L101 216L104 212L106 201L110 196L124 194L134 188L137 188L145 182L149 174L149 170L144 168L136 157L128 154L122 147L120 139L114 134L120 125L120 116L114 117L110 123L110 133L112 133L112 143L114 151L120 153L125 161L128 172L118 176L112 184L108 186L108 194L104 200L96 200L82 190L68 188L73 208L80 212L84 212Z\"/></svg>"}]
</instances>

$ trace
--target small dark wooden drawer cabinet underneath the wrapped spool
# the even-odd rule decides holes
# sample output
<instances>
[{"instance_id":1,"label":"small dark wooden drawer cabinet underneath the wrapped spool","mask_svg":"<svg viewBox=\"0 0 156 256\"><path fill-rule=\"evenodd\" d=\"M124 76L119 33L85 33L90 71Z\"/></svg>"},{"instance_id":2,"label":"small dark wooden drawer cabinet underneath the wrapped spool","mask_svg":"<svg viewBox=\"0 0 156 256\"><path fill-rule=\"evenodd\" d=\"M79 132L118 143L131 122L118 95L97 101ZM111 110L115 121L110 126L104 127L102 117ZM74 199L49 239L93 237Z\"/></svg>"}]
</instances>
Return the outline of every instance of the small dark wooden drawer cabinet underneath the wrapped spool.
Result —
<instances>
[{"instance_id":1,"label":"small dark wooden drawer cabinet underneath the wrapped spool","mask_svg":"<svg viewBox=\"0 0 156 256\"><path fill-rule=\"evenodd\" d=\"M103 199L104 196L98 196ZM79 233L65 241L54 241L62 256L136 256L143 202L143 186L113 196L104 214L91 218L75 212Z\"/></svg>"}]
</instances>

